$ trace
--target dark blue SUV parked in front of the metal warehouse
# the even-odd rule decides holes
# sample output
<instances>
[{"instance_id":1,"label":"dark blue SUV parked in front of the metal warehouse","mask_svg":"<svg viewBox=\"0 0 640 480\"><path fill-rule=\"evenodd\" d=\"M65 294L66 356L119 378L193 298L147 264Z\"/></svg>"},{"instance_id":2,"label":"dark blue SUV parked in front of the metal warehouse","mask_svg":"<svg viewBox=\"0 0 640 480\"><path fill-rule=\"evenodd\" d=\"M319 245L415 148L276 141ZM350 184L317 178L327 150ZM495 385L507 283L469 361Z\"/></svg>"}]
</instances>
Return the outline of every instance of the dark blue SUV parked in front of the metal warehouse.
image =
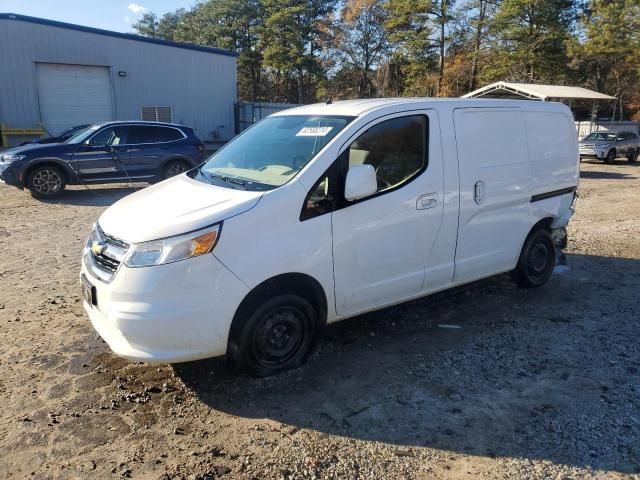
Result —
<instances>
[{"instance_id":1,"label":"dark blue SUV parked in front of the metal warehouse","mask_svg":"<svg viewBox=\"0 0 640 480\"><path fill-rule=\"evenodd\" d=\"M45 199L71 184L155 182L185 172L205 157L191 128L108 122L81 130L64 143L6 150L0 155L0 180Z\"/></svg>"}]
</instances>

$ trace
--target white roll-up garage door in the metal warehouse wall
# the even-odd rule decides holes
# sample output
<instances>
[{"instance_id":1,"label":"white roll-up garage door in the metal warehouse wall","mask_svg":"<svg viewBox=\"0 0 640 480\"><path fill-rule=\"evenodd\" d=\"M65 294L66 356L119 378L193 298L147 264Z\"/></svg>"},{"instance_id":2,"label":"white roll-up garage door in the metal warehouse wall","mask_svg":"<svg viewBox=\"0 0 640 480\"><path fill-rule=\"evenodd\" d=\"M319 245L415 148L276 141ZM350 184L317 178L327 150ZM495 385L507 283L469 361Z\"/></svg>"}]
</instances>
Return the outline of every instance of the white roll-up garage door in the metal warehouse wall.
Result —
<instances>
[{"instance_id":1,"label":"white roll-up garage door in the metal warehouse wall","mask_svg":"<svg viewBox=\"0 0 640 480\"><path fill-rule=\"evenodd\" d=\"M36 69L40 118L52 135L113 120L108 67L38 63Z\"/></svg>"}]
</instances>

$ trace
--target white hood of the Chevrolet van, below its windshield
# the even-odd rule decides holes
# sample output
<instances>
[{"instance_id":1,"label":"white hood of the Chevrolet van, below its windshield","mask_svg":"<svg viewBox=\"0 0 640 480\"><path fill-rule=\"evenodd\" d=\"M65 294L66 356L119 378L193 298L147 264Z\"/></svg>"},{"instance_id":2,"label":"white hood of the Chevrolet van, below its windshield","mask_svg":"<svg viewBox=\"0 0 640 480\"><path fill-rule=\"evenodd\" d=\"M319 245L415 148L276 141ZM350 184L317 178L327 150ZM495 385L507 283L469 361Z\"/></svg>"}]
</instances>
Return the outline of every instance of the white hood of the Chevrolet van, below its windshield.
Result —
<instances>
[{"instance_id":1,"label":"white hood of the Chevrolet van, below its windshield","mask_svg":"<svg viewBox=\"0 0 640 480\"><path fill-rule=\"evenodd\" d=\"M98 220L108 235L127 243L204 228L253 208L263 192L209 185L182 174L139 190L109 207Z\"/></svg>"}]
</instances>

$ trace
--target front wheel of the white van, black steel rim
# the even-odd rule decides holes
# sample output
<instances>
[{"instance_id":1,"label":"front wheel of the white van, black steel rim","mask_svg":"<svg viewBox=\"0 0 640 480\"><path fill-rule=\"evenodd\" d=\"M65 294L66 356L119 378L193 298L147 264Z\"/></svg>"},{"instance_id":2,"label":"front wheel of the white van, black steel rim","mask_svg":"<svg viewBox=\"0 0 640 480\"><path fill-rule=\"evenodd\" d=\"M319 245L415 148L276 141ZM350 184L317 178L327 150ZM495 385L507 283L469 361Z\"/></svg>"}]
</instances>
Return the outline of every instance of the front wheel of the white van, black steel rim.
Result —
<instances>
[{"instance_id":1,"label":"front wheel of the white van, black steel rim","mask_svg":"<svg viewBox=\"0 0 640 480\"><path fill-rule=\"evenodd\" d=\"M251 313L231 339L236 365L251 375L265 377L304 363L317 325L317 312L306 299L278 295L249 305L246 311Z\"/></svg>"}]
</instances>

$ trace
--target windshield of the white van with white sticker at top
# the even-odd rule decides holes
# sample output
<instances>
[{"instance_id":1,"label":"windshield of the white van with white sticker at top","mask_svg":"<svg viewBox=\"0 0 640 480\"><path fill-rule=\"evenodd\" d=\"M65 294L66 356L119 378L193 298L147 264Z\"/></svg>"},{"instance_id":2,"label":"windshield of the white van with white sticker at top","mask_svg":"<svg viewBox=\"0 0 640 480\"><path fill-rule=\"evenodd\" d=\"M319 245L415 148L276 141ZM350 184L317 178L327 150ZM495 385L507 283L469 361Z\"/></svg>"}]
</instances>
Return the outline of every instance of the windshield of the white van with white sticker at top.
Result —
<instances>
[{"instance_id":1,"label":"windshield of the white van with white sticker at top","mask_svg":"<svg viewBox=\"0 0 640 480\"><path fill-rule=\"evenodd\" d=\"M272 190L291 180L352 117L267 117L218 150L196 179L244 190Z\"/></svg>"}]
</instances>

